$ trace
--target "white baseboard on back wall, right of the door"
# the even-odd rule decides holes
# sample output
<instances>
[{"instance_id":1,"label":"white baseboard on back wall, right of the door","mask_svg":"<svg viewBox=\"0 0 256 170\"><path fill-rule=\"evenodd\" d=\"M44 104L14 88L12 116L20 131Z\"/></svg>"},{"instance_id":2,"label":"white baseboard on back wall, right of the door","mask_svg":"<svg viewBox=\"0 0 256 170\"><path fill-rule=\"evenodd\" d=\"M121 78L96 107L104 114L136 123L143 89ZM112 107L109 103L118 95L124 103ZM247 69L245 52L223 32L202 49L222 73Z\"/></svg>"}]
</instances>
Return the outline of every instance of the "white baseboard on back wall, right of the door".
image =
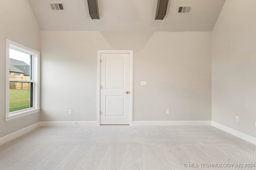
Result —
<instances>
[{"instance_id":1,"label":"white baseboard on back wall, right of the door","mask_svg":"<svg viewBox=\"0 0 256 170\"><path fill-rule=\"evenodd\" d=\"M212 125L212 121L132 121L136 126Z\"/></svg>"}]
</instances>

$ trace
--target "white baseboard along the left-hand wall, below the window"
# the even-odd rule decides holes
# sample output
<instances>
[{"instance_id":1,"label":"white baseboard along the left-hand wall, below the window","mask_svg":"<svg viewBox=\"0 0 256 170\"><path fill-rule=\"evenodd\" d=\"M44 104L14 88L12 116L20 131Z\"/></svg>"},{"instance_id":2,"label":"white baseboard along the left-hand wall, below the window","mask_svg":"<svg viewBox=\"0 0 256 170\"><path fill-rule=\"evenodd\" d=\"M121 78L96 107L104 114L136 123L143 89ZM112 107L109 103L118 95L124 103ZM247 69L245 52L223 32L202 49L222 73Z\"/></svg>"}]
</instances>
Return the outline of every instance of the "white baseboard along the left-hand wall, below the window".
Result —
<instances>
[{"instance_id":1,"label":"white baseboard along the left-hand wall, below the window","mask_svg":"<svg viewBox=\"0 0 256 170\"><path fill-rule=\"evenodd\" d=\"M14 133L11 133L9 135L6 135L4 137L0 138L0 145L2 145L3 143L6 143L8 141L11 141L12 139L15 139L21 135L24 135L25 133L28 133L29 131L32 131L33 129L36 129L37 127L40 127L40 122L35 123L33 125L30 125L28 127L25 127L23 129L20 129L19 131L16 131Z\"/></svg>"}]
</instances>

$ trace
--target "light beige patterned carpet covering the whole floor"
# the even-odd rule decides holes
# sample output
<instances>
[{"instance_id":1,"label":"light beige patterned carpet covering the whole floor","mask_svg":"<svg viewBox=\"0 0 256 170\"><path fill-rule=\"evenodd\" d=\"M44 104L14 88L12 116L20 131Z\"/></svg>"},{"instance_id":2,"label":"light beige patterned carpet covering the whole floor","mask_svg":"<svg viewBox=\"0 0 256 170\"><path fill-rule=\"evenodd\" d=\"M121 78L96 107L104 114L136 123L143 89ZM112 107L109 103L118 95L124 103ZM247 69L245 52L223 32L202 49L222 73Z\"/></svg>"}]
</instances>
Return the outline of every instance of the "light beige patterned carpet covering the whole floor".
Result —
<instances>
[{"instance_id":1,"label":"light beige patterned carpet covering the whole floor","mask_svg":"<svg viewBox=\"0 0 256 170\"><path fill-rule=\"evenodd\" d=\"M256 169L248 163L256 145L212 126L39 127L0 146L1 170Z\"/></svg>"}]
</instances>

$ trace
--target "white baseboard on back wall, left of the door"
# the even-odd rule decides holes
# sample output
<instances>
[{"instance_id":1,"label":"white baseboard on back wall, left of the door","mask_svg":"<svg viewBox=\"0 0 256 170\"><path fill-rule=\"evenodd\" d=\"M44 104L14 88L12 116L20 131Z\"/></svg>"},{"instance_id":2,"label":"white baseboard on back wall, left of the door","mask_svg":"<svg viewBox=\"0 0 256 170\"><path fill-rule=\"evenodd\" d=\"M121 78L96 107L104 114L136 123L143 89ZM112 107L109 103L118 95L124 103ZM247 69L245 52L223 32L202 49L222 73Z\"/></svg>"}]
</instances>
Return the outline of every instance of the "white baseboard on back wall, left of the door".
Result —
<instances>
[{"instance_id":1,"label":"white baseboard on back wall, left of the door","mask_svg":"<svg viewBox=\"0 0 256 170\"><path fill-rule=\"evenodd\" d=\"M97 126L97 121L41 121L40 126Z\"/></svg>"}]
</instances>

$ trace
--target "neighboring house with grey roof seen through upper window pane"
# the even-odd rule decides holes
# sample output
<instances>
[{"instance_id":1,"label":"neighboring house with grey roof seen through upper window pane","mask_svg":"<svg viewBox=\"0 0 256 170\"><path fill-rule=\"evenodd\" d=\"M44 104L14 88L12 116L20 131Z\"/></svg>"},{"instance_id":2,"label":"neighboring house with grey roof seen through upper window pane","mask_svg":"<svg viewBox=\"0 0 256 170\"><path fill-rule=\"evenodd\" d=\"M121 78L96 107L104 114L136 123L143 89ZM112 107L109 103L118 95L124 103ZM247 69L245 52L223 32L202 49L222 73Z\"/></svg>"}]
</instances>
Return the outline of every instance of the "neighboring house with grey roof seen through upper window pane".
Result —
<instances>
[{"instance_id":1,"label":"neighboring house with grey roof seen through upper window pane","mask_svg":"<svg viewBox=\"0 0 256 170\"><path fill-rule=\"evenodd\" d=\"M10 74L16 76L30 76L30 65L24 61L10 58Z\"/></svg>"}]
</instances>

